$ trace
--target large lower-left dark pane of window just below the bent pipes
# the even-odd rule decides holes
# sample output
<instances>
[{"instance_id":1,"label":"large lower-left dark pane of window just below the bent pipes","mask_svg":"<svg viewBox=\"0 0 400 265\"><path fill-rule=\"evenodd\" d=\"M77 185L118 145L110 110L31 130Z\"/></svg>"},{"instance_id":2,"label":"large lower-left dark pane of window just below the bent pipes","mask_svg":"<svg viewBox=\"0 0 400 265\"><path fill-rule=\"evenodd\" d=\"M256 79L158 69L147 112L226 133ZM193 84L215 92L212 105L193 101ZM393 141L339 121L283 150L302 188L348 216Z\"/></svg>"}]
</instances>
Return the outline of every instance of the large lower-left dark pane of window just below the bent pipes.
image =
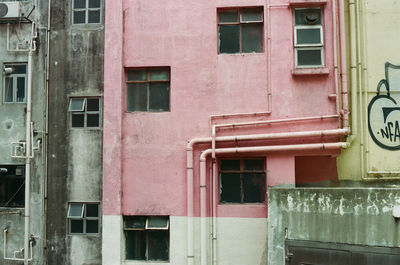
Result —
<instances>
[{"instance_id":1,"label":"large lower-left dark pane of window just below the bent pipes","mask_svg":"<svg viewBox=\"0 0 400 265\"><path fill-rule=\"evenodd\" d=\"M222 173L220 183L221 202L241 202L240 174Z\"/></svg>"}]
</instances>

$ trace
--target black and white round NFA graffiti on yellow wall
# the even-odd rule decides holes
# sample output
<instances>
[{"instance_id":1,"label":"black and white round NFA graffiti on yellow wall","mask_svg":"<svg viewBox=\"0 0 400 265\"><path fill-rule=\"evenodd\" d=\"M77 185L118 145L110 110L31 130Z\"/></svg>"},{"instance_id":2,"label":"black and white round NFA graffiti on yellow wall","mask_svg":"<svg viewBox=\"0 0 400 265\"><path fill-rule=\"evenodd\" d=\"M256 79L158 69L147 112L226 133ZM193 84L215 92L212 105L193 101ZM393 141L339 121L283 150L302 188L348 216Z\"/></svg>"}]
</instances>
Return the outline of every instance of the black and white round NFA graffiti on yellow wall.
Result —
<instances>
[{"instance_id":1,"label":"black and white round NFA graffiti on yellow wall","mask_svg":"<svg viewBox=\"0 0 400 265\"><path fill-rule=\"evenodd\" d=\"M380 147L400 150L400 65L385 64L385 79L368 105L368 130Z\"/></svg>"}]
</instances>

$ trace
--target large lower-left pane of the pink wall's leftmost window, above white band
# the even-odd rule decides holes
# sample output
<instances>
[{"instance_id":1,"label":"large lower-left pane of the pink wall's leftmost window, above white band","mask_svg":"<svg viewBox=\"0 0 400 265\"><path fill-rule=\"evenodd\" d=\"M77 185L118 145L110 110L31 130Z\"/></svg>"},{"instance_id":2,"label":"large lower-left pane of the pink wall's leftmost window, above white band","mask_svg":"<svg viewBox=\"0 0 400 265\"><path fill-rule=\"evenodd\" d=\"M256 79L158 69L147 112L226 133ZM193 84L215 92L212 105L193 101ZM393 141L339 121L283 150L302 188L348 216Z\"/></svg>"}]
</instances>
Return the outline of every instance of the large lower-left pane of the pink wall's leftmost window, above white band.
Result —
<instances>
[{"instance_id":1,"label":"large lower-left pane of the pink wall's leftmost window, above white band","mask_svg":"<svg viewBox=\"0 0 400 265\"><path fill-rule=\"evenodd\" d=\"M127 84L127 111L147 111L147 84Z\"/></svg>"}]
</instances>

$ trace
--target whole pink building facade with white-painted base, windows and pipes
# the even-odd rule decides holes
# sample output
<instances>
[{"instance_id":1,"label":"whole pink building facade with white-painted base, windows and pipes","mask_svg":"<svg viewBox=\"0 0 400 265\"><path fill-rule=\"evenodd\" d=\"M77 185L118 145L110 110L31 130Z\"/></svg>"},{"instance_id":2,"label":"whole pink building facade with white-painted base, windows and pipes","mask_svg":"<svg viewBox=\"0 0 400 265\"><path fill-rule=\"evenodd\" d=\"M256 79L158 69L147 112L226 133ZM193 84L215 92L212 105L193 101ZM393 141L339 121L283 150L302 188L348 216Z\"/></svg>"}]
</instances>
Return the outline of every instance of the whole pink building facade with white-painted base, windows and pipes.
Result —
<instances>
[{"instance_id":1,"label":"whole pink building facade with white-painted base, windows and pipes","mask_svg":"<svg viewBox=\"0 0 400 265\"><path fill-rule=\"evenodd\" d=\"M103 264L266 264L268 186L337 179L342 11L106 1Z\"/></svg>"}]
</instances>

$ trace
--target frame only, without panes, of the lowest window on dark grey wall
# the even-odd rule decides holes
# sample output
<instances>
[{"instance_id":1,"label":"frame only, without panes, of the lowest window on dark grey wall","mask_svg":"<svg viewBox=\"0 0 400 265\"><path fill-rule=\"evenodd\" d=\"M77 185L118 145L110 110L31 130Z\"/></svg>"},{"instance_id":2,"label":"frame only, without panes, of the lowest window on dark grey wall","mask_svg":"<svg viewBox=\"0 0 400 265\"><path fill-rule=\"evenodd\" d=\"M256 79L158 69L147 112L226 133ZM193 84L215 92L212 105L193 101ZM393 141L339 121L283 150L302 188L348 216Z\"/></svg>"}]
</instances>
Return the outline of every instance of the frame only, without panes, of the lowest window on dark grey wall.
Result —
<instances>
[{"instance_id":1,"label":"frame only, without panes, of the lowest window on dark grey wall","mask_svg":"<svg viewBox=\"0 0 400 265\"><path fill-rule=\"evenodd\" d=\"M70 209L73 204L81 204L82 208L82 216L81 217L70 217ZM96 204L97 205L97 217L87 216L87 205ZM68 202L67 209L67 221L68 221L68 235L88 235L88 236L98 236L101 234L101 205L100 202ZM71 220L82 220L83 221L83 232L82 233L73 233L71 232ZM88 233L87 232L87 221L97 221L97 233Z\"/></svg>"}]
</instances>

